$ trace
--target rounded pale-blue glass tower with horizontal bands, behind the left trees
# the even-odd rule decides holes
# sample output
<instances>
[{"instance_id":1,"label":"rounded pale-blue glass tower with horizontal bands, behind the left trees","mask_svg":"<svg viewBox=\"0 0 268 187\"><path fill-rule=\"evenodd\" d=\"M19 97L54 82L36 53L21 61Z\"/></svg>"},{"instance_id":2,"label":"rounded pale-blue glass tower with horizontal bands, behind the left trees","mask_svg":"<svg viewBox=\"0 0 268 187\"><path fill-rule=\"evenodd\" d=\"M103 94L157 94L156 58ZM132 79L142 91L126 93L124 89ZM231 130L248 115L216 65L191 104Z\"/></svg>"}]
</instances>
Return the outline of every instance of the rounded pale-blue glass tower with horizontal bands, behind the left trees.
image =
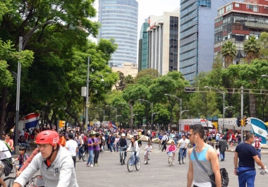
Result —
<instances>
[{"instance_id":1,"label":"rounded pale-blue glass tower with horizontal bands, behind the left trees","mask_svg":"<svg viewBox=\"0 0 268 187\"><path fill-rule=\"evenodd\" d=\"M118 49L109 64L137 64L138 2L136 0L99 0L99 39L114 38Z\"/></svg>"}]
</instances>

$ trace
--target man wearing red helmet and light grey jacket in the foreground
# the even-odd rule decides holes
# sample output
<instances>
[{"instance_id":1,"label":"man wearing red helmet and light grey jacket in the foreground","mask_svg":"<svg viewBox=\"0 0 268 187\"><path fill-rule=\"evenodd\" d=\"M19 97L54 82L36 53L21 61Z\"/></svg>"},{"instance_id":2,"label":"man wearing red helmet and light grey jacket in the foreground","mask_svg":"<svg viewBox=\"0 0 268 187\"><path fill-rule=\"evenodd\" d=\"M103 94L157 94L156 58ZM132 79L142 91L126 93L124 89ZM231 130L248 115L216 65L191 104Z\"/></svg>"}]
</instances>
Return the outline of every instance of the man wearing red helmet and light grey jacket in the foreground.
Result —
<instances>
[{"instance_id":1,"label":"man wearing red helmet and light grey jacket in the foreground","mask_svg":"<svg viewBox=\"0 0 268 187\"><path fill-rule=\"evenodd\" d=\"M73 159L68 150L61 147L59 133L42 131L37 135L36 144L40 152L14 181L13 187L25 186L38 169L44 186L78 187Z\"/></svg>"}]
</instances>

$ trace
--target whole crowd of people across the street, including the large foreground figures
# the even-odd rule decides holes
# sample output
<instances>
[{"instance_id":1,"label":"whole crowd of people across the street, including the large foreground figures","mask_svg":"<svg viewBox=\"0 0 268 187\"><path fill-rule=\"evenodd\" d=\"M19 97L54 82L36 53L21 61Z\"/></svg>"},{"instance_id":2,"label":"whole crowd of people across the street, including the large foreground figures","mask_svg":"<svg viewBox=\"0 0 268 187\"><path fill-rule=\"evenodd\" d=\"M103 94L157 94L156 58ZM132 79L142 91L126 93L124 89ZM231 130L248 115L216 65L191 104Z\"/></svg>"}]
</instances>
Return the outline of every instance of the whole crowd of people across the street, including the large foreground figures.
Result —
<instances>
[{"instance_id":1,"label":"whole crowd of people across the street, including the large foreground figures","mask_svg":"<svg viewBox=\"0 0 268 187\"><path fill-rule=\"evenodd\" d=\"M126 138L127 135L130 135L129 143ZM23 134L20 132L18 134L19 138L23 136L25 140L23 143L20 142L19 155L16 158L19 162L17 167L18 178L13 186L24 186L30 177L35 174L35 171L39 169L43 176L43 186L76 187L78 183L75 176L75 157L78 152L81 155L88 152L87 167L98 166L99 154L105 148L110 152L121 152L123 148L128 146L126 152L135 151L135 157L139 160L140 147L142 146L140 138L143 135L148 137L148 143L145 147L147 152L153 150L151 145L153 138L160 141L163 145L163 151L173 153L173 159L175 159L177 150L183 150L183 157L186 157L188 150L187 154L190 158L188 184L193 183L194 186L206 186L208 183L212 183L211 179L207 178L207 174L214 174L213 182L215 186L219 185L219 157L223 162L230 141L231 144L238 143L234 156L234 174L238 175L241 186L245 183L248 183L248 185L254 184L256 174L254 162L260 166L261 174L267 172L261 161L260 150L262 145L260 137L255 137L252 133L245 133L243 135L245 143L240 143L242 137L239 133L205 133L201 125L193 125L190 126L190 131L179 132L92 128L87 133L80 132L78 129L69 129L57 133L53 129L43 129L42 131L30 129L30 131L24 131ZM166 147L168 142L170 145ZM30 150L28 146L30 147L31 143L35 143L37 148L32 152L32 155L28 155L27 150ZM0 140L0 176L4 174L8 176L10 173L13 150L12 135L2 135L2 140ZM28 167L29 164L31 167ZM202 167L201 170L200 167L197 167L200 164L204 165L206 172L202 172L205 171ZM47 169L51 172L48 173ZM1 178L0 183L6 187Z\"/></svg>"}]
</instances>

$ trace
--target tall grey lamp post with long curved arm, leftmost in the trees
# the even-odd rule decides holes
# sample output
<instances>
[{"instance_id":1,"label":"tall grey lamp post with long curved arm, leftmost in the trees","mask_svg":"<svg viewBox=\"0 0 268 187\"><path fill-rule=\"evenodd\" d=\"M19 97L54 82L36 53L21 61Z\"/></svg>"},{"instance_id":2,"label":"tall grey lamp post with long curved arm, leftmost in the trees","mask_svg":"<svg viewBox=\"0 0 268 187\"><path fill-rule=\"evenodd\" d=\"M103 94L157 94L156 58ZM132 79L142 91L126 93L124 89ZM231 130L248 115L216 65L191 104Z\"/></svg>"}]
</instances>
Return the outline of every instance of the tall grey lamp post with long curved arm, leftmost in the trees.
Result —
<instances>
[{"instance_id":1,"label":"tall grey lamp post with long curved arm, leftmost in the trees","mask_svg":"<svg viewBox=\"0 0 268 187\"><path fill-rule=\"evenodd\" d=\"M52 23L56 23L54 20L48 20L46 23L43 23L41 25L35 26L35 28L32 28L24 37L19 37L19 44L18 44L18 52L21 52L24 50L28 40L32 36L32 34L42 25L50 25ZM15 153L18 152L18 119L20 117L20 72L21 72L21 66L20 61L18 61L18 73L17 73L17 93L16 93L16 123L15 123L15 133L14 133L14 139L15 139Z\"/></svg>"}]
</instances>

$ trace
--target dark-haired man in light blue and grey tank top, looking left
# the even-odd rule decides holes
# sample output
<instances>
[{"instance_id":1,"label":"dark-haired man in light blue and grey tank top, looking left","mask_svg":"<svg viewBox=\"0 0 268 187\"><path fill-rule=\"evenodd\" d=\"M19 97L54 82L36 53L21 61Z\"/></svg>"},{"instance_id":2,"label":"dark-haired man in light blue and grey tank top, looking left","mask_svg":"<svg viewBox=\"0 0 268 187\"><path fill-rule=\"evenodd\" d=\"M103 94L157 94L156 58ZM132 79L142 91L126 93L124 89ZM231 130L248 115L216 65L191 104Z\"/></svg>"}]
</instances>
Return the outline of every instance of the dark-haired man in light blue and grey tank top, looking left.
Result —
<instances>
[{"instance_id":1,"label":"dark-haired man in light blue and grey tank top, looking left","mask_svg":"<svg viewBox=\"0 0 268 187\"><path fill-rule=\"evenodd\" d=\"M189 169L187 174L187 187L211 187L214 183L217 187L221 187L221 174L219 172L219 159L216 151L211 145L204 142L205 129L200 124L190 125L189 140L195 143L195 147L188 150ZM193 152L195 150L195 154ZM200 167L204 167L207 172ZM209 179L209 176L215 175L215 182Z\"/></svg>"}]
</instances>

